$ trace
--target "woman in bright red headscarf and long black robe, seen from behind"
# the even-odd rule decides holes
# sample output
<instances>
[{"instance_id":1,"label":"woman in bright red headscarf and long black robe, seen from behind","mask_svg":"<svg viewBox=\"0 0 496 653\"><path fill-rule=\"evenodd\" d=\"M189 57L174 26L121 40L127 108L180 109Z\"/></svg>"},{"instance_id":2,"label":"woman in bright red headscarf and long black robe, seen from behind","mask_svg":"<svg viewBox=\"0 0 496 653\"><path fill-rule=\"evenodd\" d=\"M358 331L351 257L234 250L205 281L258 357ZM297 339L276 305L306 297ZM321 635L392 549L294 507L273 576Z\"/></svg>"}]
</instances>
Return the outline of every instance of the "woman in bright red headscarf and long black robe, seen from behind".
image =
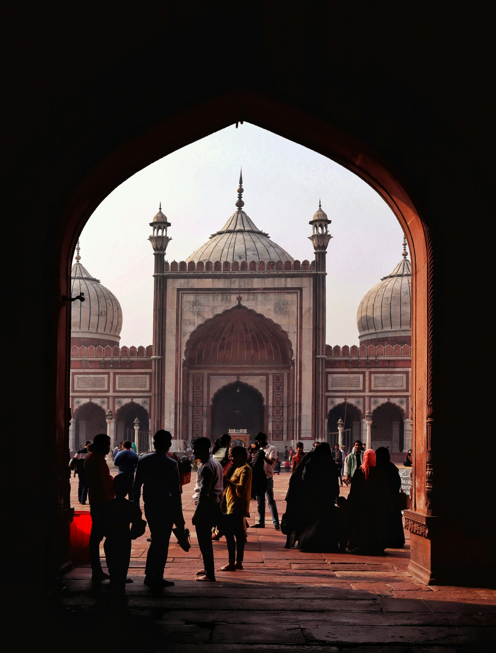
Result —
<instances>
[{"instance_id":1,"label":"woman in bright red headscarf and long black robe, seen from behind","mask_svg":"<svg viewBox=\"0 0 496 653\"><path fill-rule=\"evenodd\" d=\"M363 454L363 462L352 477L348 501L348 549L361 555L384 554L388 544L389 492L384 474L376 468L373 449Z\"/></svg>"}]
</instances>

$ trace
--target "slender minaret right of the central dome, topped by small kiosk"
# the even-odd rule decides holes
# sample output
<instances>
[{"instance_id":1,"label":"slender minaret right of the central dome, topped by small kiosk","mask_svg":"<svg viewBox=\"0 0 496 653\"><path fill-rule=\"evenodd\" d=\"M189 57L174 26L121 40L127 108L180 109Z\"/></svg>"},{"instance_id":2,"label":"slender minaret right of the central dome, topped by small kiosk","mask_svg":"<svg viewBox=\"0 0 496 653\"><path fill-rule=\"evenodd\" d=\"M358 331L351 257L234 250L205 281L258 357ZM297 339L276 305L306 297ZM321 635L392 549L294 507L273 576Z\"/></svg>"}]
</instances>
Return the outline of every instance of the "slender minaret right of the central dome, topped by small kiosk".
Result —
<instances>
[{"instance_id":1,"label":"slender minaret right of the central dome, topped by small kiosk","mask_svg":"<svg viewBox=\"0 0 496 653\"><path fill-rule=\"evenodd\" d=\"M331 234L327 233L327 225L331 220L323 212L319 200L319 208L308 224L312 225L312 241L315 250L314 276L314 439L325 439L327 431L327 411L325 406L325 255Z\"/></svg>"}]
</instances>

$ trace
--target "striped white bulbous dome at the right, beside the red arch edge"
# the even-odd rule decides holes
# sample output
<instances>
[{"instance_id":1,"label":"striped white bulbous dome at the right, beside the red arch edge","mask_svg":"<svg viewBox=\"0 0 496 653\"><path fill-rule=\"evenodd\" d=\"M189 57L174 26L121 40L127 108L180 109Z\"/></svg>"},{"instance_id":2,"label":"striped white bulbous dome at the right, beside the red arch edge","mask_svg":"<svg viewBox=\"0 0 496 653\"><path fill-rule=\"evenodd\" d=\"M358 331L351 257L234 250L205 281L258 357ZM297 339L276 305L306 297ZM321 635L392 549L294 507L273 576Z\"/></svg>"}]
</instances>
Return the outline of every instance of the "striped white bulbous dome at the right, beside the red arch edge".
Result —
<instances>
[{"instance_id":1,"label":"striped white bulbous dome at the right, beside the red arch edge","mask_svg":"<svg viewBox=\"0 0 496 653\"><path fill-rule=\"evenodd\" d=\"M357 311L360 342L411 337L411 281L412 264L405 258L363 297Z\"/></svg>"}]
</instances>

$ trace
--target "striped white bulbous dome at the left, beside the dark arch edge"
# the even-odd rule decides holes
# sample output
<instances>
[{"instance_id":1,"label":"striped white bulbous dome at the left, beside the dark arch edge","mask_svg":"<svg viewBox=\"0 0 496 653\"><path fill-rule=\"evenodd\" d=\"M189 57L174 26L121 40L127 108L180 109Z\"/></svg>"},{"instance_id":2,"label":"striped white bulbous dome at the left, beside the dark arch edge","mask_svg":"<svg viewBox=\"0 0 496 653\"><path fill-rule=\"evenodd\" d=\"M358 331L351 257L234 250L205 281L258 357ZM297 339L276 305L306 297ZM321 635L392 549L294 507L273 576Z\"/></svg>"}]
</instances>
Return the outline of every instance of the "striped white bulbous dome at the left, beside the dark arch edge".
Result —
<instances>
[{"instance_id":1,"label":"striped white bulbous dome at the left, beside the dark arch edge","mask_svg":"<svg viewBox=\"0 0 496 653\"><path fill-rule=\"evenodd\" d=\"M77 250L76 263L71 268L71 296L84 293L84 302L72 302L71 338L76 342L88 341L84 344L118 345L122 329L120 304L116 296L80 264L79 246Z\"/></svg>"}]
</instances>

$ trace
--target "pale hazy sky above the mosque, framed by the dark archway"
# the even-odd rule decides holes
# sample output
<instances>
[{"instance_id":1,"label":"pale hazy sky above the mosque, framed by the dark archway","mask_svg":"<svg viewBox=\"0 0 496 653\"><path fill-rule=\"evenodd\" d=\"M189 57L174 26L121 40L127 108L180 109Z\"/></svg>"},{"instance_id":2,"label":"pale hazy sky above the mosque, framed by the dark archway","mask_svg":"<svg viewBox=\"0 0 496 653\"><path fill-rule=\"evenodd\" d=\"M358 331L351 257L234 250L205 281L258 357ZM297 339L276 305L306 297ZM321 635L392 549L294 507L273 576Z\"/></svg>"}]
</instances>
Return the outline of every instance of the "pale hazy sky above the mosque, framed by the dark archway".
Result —
<instances>
[{"instance_id":1,"label":"pale hazy sky above the mosque, framed by the dark archway","mask_svg":"<svg viewBox=\"0 0 496 653\"><path fill-rule=\"evenodd\" d=\"M167 261L182 261L235 211L239 168L244 210L295 259L312 260L308 236L322 199L332 220L327 247L327 344L358 342L363 295L401 260L403 232L387 204L334 161L244 123L227 127L137 172L103 200L80 236L81 263L116 295L121 345L152 342L153 250L159 201L172 237Z\"/></svg>"}]
</instances>

